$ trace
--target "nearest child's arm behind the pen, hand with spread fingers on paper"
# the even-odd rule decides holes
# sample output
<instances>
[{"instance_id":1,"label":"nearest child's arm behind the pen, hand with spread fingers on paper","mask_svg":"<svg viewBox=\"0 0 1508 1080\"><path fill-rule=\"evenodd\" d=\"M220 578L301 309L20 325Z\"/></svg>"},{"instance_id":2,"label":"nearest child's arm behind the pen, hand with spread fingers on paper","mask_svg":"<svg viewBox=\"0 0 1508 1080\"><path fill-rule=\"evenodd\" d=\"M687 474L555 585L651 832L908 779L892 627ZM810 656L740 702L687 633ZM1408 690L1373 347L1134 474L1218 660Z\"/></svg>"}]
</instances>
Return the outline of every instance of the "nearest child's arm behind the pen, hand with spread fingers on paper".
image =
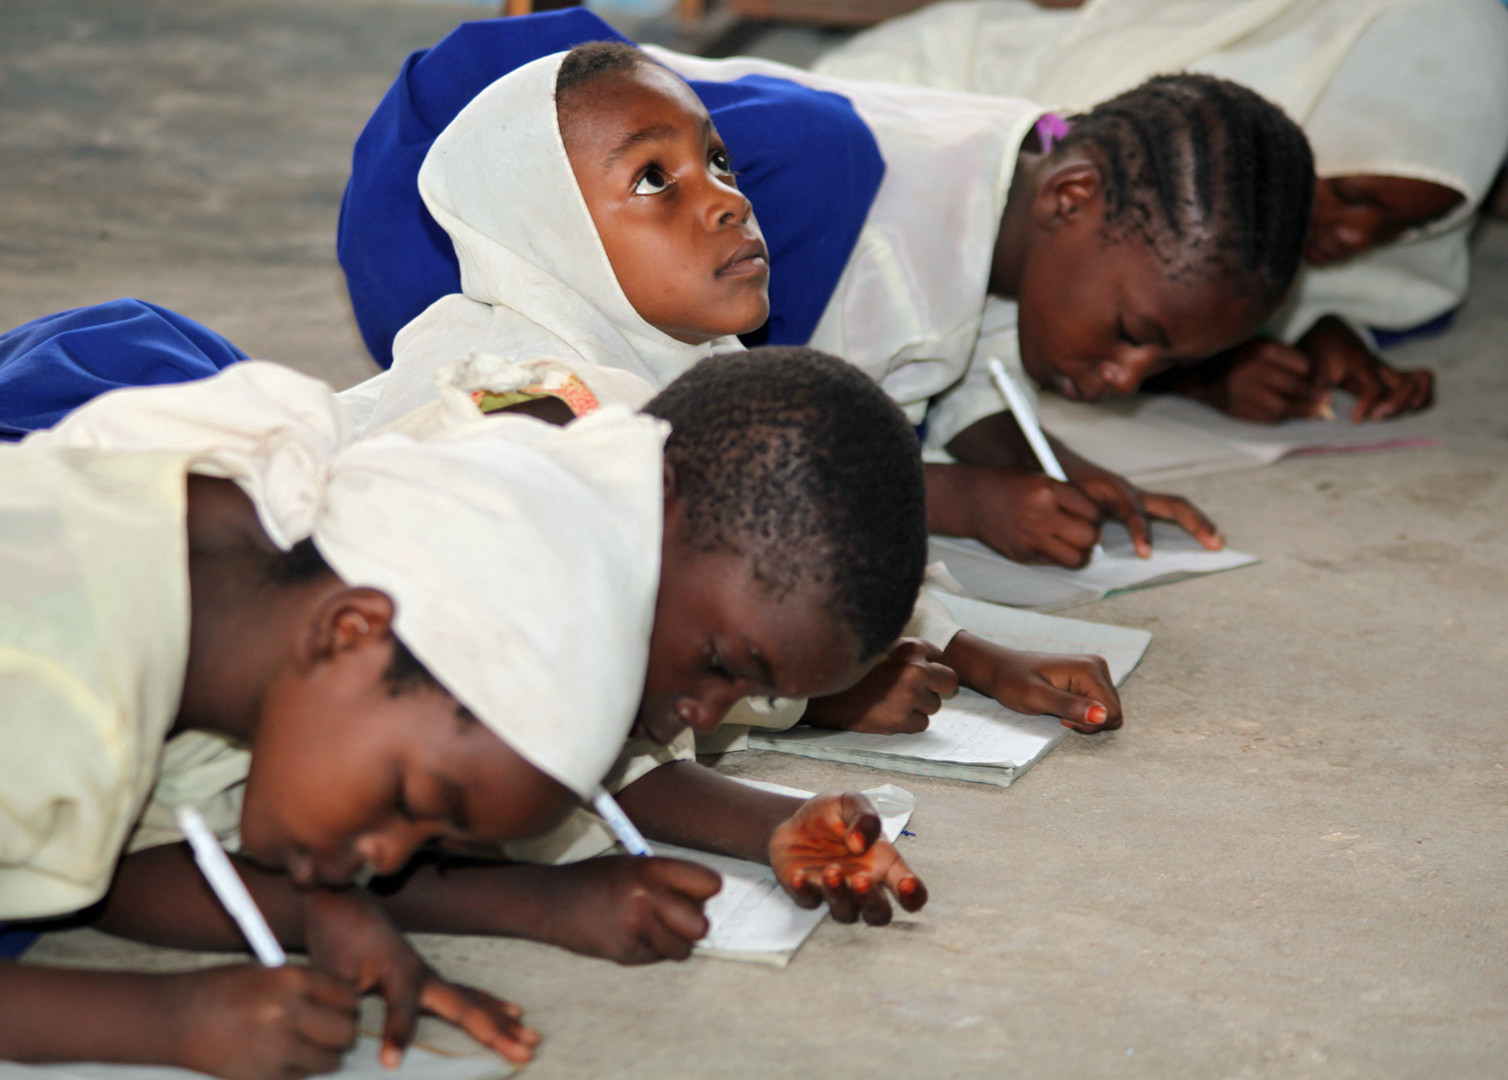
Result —
<instances>
[{"instance_id":1,"label":"nearest child's arm behind the pen, hand with spread fingers on paper","mask_svg":"<svg viewBox=\"0 0 1508 1080\"><path fill-rule=\"evenodd\" d=\"M446 982L359 890L294 888L280 875L235 858L235 869L277 940L311 962L388 1003L383 1059L397 1063L419 1012L428 1012L508 1060L526 1062L538 1035L519 1008L486 991ZM179 949L244 947L240 929L204 882L185 845L149 848L121 860L93 925L110 934Z\"/></svg>"}]
</instances>

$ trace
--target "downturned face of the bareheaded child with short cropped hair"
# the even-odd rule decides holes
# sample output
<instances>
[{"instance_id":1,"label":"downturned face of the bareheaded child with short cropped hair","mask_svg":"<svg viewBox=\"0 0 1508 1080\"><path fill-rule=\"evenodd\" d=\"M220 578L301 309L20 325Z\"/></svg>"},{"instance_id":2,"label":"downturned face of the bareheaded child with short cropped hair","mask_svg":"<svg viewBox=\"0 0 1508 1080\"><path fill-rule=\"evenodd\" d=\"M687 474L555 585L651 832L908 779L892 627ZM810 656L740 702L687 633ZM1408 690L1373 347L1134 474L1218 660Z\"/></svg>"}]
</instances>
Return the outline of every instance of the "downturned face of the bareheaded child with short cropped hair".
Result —
<instances>
[{"instance_id":1,"label":"downturned face of the bareheaded child with short cropped hair","mask_svg":"<svg viewBox=\"0 0 1508 1080\"><path fill-rule=\"evenodd\" d=\"M837 694L872 665L828 611L825 587L774 596L745 555L686 543L676 510L661 566L635 735L668 744L688 727L707 733L740 698Z\"/></svg>"}]
</instances>

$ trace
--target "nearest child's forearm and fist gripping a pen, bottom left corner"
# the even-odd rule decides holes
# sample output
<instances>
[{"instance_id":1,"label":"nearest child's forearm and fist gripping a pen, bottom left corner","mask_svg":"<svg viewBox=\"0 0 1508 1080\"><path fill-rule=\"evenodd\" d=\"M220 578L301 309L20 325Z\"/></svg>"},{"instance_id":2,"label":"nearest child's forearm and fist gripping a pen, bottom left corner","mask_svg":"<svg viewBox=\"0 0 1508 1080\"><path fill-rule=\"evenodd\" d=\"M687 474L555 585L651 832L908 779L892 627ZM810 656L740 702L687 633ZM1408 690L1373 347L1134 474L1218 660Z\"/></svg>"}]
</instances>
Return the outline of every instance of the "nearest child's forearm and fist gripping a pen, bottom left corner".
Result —
<instances>
[{"instance_id":1,"label":"nearest child's forearm and fist gripping a pen, bottom left corner","mask_svg":"<svg viewBox=\"0 0 1508 1080\"><path fill-rule=\"evenodd\" d=\"M330 1072L356 1041L356 991L311 967L182 974L0 961L0 1059L176 1065L237 1080Z\"/></svg>"}]
</instances>

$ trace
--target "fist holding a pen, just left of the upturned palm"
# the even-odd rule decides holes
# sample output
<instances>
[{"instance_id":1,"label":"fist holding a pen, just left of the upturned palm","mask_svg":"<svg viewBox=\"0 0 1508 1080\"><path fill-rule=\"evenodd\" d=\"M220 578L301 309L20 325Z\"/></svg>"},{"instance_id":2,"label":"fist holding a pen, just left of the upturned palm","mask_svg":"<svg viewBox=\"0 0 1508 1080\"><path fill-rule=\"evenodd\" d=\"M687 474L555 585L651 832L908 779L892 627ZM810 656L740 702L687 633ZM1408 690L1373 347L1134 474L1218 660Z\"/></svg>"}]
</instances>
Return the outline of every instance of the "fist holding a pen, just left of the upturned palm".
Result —
<instances>
[{"instance_id":1,"label":"fist holding a pen, just left of the upturned palm","mask_svg":"<svg viewBox=\"0 0 1508 1080\"><path fill-rule=\"evenodd\" d=\"M540 940L618 964L691 956L707 935L701 908L722 888L716 872L680 858L609 855L540 872Z\"/></svg>"}]
</instances>

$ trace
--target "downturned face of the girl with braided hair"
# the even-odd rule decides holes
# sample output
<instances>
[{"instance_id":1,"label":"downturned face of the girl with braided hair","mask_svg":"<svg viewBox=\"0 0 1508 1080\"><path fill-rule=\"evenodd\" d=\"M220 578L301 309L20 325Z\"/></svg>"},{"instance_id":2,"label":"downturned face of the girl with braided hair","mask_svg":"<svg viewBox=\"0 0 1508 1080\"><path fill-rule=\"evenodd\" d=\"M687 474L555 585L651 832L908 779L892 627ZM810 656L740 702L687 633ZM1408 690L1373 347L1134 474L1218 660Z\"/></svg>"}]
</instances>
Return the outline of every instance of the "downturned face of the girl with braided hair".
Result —
<instances>
[{"instance_id":1,"label":"downturned face of the girl with braided hair","mask_svg":"<svg viewBox=\"0 0 1508 1080\"><path fill-rule=\"evenodd\" d=\"M1090 207L1027 255L1018 338L1041 386L1071 401L1131 394L1158 371L1246 341L1270 314L1220 278L1170 278L1149 244L1102 235L1101 213Z\"/></svg>"}]
</instances>

